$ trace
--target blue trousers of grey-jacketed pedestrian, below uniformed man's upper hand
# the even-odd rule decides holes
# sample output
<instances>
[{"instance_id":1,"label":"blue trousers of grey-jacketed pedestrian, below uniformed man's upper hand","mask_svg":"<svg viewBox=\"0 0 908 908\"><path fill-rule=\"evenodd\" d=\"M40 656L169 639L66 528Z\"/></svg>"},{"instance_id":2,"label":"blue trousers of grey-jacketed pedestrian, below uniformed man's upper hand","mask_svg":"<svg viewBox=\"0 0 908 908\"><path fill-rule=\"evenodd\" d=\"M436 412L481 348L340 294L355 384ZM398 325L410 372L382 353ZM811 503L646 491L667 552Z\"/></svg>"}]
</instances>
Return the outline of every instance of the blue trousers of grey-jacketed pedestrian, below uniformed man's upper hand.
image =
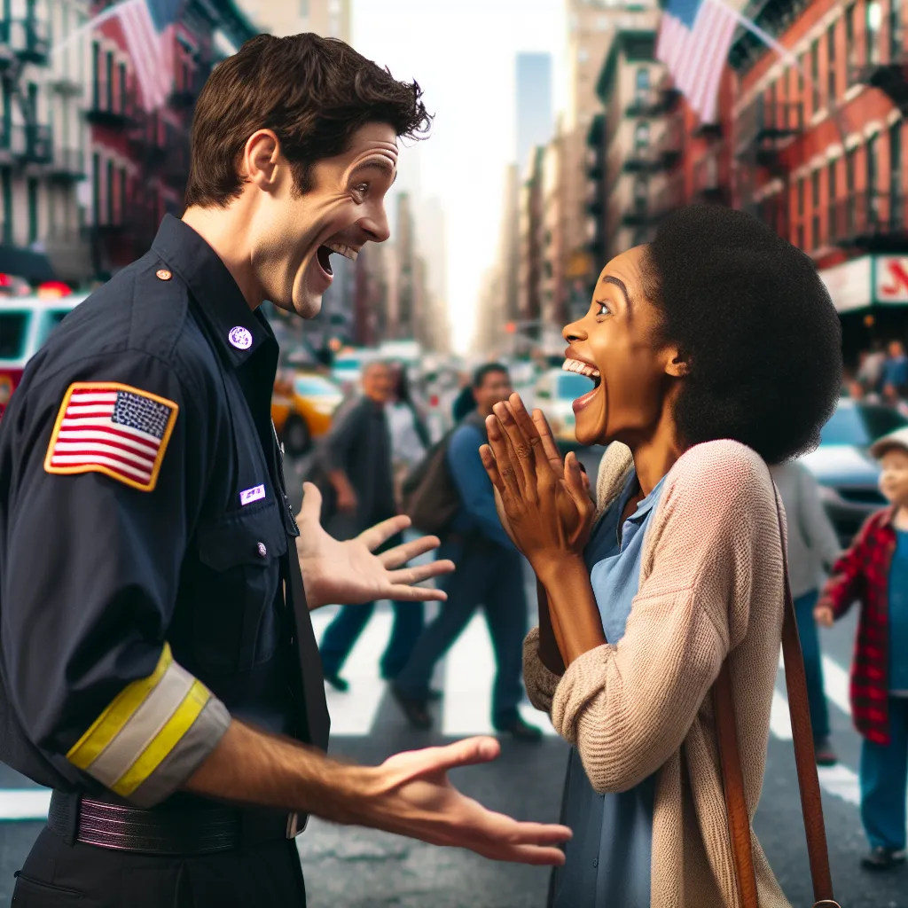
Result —
<instances>
[{"instance_id":1,"label":"blue trousers of grey-jacketed pedestrian, below uniformed man's upper hand","mask_svg":"<svg viewBox=\"0 0 908 908\"><path fill-rule=\"evenodd\" d=\"M385 652L381 656L381 676L395 678L407 664L413 646L422 633L423 610L421 602L394 602L394 626ZM325 628L319 652L321 668L325 675L338 675L350 650L356 644L364 627L369 624L375 603L365 606L342 606Z\"/></svg>"}]
</instances>

